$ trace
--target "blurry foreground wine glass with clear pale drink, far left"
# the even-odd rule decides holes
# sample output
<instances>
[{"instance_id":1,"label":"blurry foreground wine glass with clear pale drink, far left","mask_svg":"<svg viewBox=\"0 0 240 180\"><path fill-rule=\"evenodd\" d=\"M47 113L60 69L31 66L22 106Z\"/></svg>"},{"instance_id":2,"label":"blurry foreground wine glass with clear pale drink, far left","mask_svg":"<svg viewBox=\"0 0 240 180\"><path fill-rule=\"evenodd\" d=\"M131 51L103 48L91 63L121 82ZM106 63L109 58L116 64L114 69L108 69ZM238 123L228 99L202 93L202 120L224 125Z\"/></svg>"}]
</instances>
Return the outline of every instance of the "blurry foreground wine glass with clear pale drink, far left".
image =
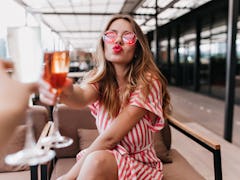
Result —
<instances>
[{"instance_id":1,"label":"blurry foreground wine glass with clear pale drink, far left","mask_svg":"<svg viewBox=\"0 0 240 180\"><path fill-rule=\"evenodd\" d=\"M8 28L9 55L14 62L13 77L23 83L37 82L42 71L43 53L39 27ZM33 136L32 119L26 113L26 138L23 150L7 155L9 165L37 165L51 160L53 150L46 151L36 145Z\"/></svg>"}]
</instances>

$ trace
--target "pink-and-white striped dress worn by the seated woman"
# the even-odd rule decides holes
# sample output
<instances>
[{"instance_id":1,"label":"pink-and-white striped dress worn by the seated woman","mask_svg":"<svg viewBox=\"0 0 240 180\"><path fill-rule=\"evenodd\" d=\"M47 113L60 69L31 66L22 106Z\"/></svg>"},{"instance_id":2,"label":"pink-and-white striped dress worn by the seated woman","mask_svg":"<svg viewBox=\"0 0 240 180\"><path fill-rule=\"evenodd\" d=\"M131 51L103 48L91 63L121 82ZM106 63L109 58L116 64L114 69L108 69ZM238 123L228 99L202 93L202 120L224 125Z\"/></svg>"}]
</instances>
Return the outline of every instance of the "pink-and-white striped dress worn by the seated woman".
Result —
<instances>
[{"instance_id":1,"label":"pink-and-white striped dress worn by the seated woman","mask_svg":"<svg viewBox=\"0 0 240 180\"><path fill-rule=\"evenodd\" d=\"M110 151L118 165L119 180L160 180L163 177L162 163L156 156L152 138L152 133L164 126L160 81L154 80L151 83L150 93L145 101L141 97L139 90L134 91L130 96L129 105L144 108L148 113L139 120L115 149ZM90 108L101 134L113 120L108 118L108 112L98 101ZM157 115L154 123L151 122L150 112ZM84 150L78 153L77 159L80 159L83 154Z\"/></svg>"}]
</instances>

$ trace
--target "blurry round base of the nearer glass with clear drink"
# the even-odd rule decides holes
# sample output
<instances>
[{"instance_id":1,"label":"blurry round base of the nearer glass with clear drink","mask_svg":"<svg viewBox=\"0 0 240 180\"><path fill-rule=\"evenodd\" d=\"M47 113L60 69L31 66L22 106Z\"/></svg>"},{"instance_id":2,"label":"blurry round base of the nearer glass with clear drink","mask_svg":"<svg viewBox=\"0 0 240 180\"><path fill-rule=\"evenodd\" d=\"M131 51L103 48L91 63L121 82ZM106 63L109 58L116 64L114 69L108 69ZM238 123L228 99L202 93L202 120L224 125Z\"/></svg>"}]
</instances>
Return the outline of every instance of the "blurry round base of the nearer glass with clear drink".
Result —
<instances>
[{"instance_id":1,"label":"blurry round base of the nearer glass with clear drink","mask_svg":"<svg viewBox=\"0 0 240 180\"><path fill-rule=\"evenodd\" d=\"M55 157L55 151L43 149L31 148L23 149L14 154L9 154L5 158L5 162L8 165L17 166L17 165L29 165L34 166L37 164L43 164Z\"/></svg>"}]
</instances>

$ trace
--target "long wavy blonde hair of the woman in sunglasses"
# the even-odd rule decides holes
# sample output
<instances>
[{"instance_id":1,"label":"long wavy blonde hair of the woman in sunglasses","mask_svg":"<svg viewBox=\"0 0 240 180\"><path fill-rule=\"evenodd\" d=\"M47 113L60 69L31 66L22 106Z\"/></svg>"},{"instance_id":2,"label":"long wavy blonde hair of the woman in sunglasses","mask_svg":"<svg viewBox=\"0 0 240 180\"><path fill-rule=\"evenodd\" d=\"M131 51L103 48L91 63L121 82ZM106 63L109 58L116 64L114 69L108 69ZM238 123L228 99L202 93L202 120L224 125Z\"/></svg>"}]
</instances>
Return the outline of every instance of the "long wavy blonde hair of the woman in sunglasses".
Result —
<instances>
[{"instance_id":1,"label":"long wavy blonde hair of the woman in sunglasses","mask_svg":"<svg viewBox=\"0 0 240 180\"><path fill-rule=\"evenodd\" d=\"M89 73L85 82L98 83L100 103L105 106L110 117L114 118L118 115L119 110L128 103L131 92L136 88L141 86L141 91L147 96L149 92L149 74L151 74L152 78L158 78L161 81L163 115L166 117L170 112L170 96L166 88L167 81L154 63L153 55L141 28L131 16L115 15L108 22L103 32L108 30L110 25L118 19L128 21L138 38L133 60L129 63L129 69L126 73L128 84L122 98L117 91L119 87L113 65L111 62L107 61L104 56L104 42L102 38L99 40L96 54L94 56L96 60L96 68Z\"/></svg>"}]
</instances>

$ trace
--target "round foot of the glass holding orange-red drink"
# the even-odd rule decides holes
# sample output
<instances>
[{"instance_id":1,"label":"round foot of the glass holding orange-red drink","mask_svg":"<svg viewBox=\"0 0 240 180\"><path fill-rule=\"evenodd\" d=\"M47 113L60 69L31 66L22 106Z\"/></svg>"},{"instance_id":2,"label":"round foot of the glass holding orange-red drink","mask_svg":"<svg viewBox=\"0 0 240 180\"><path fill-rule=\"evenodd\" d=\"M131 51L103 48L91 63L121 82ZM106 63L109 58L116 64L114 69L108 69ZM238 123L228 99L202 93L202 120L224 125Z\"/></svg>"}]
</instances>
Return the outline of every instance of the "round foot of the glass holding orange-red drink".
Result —
<instances>
[{"instance_id":1,"label":"round foot of the glass holding orange-red drink","mask_svg":"<svg viewBox=\"0 0 240 180\"><path fill-rule=\"evenodd\" d=\"M43 146L48 146L51 148L64 148L68 147L73 143L72 138L66 136L48 136L41 140Z\"/></svg>"}]
</instances>

